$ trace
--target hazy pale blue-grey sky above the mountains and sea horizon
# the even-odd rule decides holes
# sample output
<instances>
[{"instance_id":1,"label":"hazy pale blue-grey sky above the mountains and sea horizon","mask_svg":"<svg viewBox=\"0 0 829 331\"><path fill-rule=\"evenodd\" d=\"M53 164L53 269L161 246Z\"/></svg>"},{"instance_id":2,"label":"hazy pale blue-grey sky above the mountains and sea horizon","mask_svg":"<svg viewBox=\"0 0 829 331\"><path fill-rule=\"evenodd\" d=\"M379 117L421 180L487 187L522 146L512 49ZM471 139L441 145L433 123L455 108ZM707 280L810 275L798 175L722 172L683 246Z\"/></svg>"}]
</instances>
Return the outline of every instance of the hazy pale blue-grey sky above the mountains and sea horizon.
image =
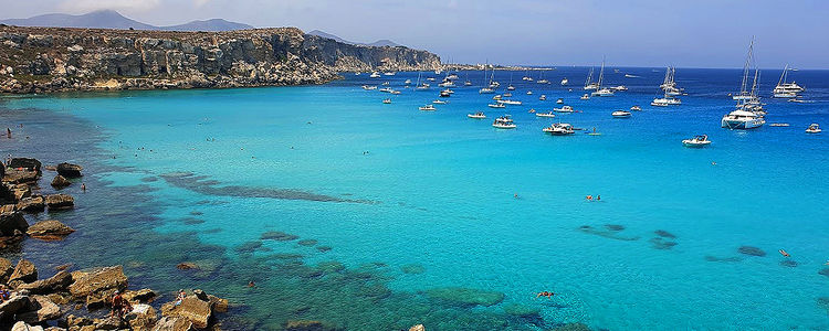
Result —
<instances>
[{"instance_id":1,"label":"hazy pale blue-grey sky above the mountains and sea horizon","mask_svg":"<svg viewBox=\"0 0 829 331\"><path fill-rule=\"evenodd\" d=\"M0 18L115 9L168 25L223 18L390 39L443 61L742 67L752 35L762 67L829 68L828 0L0 0Z\"/></svg>"}]
</instances>

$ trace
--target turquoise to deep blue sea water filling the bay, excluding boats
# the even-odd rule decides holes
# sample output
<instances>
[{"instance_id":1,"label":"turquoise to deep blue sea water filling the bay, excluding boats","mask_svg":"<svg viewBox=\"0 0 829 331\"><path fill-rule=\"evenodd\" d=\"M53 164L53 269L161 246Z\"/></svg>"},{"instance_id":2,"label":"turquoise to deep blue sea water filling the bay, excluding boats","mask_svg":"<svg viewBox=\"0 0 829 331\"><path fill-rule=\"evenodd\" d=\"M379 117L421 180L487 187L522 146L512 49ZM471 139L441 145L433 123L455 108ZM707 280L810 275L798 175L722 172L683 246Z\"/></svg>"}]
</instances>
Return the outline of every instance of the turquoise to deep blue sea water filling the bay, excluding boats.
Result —
<instances>
[{"instance_id":1,"label":"turquoise to deep blue sea water filling the bay, excluding boats","mask_svg":"<svg viewBox=\"0 0 829 331\"><path fill-rule=\"evenodd\" d=\"M418 107L445 74L6 97L2 156L81 163L90 188L66 189L76 210L35 216L77 233L8 256L123 264L166 299L203 288L234 305L229 330L829 330L829 131L804 131L829 128L829 72L791 72L809 103L789 103L764 71L767 120L790 126L746 131L720 127L738 70L678 68L688 95L668 108L649 106L664 68L608 70L629 90L580 100L588 70L497 71L499 94L512 82L524 103L506 109L487 108L483 72L458 73L433 113ZM405 86L418 76L437 82ZM401 94L360 87L382 82ZM528 113L558 98L579 113ZM491 126L503 114L516 129ZM585 130L542 132L555 121ZM682 146L702 134L711 146Z\"/></svg>"}]
</instances>

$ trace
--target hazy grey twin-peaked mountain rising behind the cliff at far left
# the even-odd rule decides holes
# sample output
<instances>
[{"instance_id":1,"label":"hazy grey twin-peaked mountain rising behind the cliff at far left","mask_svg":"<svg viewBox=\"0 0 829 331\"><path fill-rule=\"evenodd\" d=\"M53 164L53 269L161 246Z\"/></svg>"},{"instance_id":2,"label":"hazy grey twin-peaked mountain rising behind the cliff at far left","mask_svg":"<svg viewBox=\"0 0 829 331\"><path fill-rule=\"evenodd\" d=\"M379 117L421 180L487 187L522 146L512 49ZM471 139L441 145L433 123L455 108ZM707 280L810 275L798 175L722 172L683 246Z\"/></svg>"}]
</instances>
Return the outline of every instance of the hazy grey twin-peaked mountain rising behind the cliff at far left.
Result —
<instances>
[{"instance_id":1,"label":"hazy grey twin-peaked mountain rising behind the cliff at far left","mask_svg":"<svg viewBox=\"0 0 829 331\"><path fill-rule=\"evenodd\" d=\"M156 26L125 18L114 10L97 10L81 15L52 13L36 15L29 19L0 20L0 23L20 26L60 26L60 28L95 28L95 29L136 29L136 30L167 30L167 31L229 31L253 29L253 26L222 19L192 21L179 25Z\"/></svg>"}]
</instances>

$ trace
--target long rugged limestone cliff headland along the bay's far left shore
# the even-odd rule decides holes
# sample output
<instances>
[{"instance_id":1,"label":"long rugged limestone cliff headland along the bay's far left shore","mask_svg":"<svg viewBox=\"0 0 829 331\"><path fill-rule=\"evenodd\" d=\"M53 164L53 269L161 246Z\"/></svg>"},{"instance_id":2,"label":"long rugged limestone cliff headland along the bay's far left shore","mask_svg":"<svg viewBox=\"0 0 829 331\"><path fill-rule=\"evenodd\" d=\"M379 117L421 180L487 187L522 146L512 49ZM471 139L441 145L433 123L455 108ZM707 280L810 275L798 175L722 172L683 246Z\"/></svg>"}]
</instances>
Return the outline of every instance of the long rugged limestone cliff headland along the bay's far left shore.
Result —
<instances>
[{"instance_id":1,"label":"long rugged limestone cliff headland along the bay's far left shore","mask_svg":"<svg viewBox=\"0 0 829 331\"><path fill-rule=\"evenodd\" d=\"M407 47L356 46L294 28L228 32L0 26L0 92L321 84L346 71L433 70Z\"/></svg>"}]
</instances>

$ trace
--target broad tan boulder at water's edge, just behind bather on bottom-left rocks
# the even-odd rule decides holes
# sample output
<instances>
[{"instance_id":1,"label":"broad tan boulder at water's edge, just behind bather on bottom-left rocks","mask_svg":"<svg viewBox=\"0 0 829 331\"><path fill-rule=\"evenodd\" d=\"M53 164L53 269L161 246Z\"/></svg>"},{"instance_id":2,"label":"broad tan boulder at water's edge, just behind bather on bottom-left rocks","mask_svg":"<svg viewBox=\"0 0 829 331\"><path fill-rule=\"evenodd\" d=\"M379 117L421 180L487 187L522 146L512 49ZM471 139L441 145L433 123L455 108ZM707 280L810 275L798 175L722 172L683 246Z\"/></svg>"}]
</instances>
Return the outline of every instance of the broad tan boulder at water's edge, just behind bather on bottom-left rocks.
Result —
<instances>
[{"instance_id":1,"label":"broad tan boulder at water's edge, just behind bather on bottom-left rocks","mask_svg":"<svg viewBox=\"0 0 829 331\"><path fill-rule=\"evenodd\" d=\"M108 295L115 290L127 288L127 276L122 266L105 267L92 271L72 273L74 281L70 285L70 293L76 299L90 295Z\"/></svg>"}]
</instances>

